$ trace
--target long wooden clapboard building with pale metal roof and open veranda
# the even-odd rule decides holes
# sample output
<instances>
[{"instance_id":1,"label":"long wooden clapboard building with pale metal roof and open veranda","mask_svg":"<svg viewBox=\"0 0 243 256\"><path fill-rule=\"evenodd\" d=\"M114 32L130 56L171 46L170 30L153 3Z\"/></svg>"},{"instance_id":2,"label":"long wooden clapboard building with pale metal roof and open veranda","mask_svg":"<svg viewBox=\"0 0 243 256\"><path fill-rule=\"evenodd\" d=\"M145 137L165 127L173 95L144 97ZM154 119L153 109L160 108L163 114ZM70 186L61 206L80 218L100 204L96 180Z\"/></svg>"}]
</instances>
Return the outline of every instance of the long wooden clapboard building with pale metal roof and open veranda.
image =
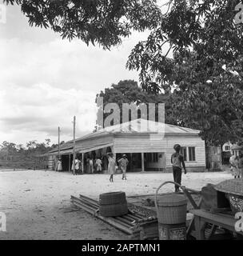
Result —
<instances>
[{"instance_id":1,"label":"long wooden clapboard building with pale metal roof and open veranda","mask_svg":"<svg viewBox=\"0 0 243 256\"><path fill-rule=\"evenodd\" d=\"M106 172L106 153L112 151L115 157L126 154L129 160L128 171L164 171L172 170L171 154L176 143L181 145L185 165L189 171L205 170L205 142L199 137L199 130L192 130L169 124L163 126L163 131L157 133L154 127L158 123L145 119L109 126L92 134L87 134L75 141L75 152L82 160L86 172L86 162L89 158L102 158L103 169ZM152 127L152 128L151 128ZM62 169L69 170L73 161L73 142L66 142L60 147ZM58 149L48 154L49 169L54 169Z\"/></svg>"}]
</instances>

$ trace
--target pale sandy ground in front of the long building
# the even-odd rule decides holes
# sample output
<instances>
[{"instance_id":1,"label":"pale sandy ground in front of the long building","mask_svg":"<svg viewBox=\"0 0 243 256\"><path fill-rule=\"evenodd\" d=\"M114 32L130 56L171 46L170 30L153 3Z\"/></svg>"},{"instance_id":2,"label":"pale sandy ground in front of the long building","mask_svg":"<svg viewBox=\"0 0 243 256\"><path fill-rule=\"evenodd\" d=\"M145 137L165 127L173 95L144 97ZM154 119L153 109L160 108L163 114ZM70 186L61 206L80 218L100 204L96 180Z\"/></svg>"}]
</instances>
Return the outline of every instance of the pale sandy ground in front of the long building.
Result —
<instances>
[{"instance_id":1,"label":"pale sandy ground in front of the long building","mask_svg":"<svg viewBox=\"0 0 243 256\"><path fill-rule=\"evenodd\" d=\"M0 239L126 239L112 226L83 210L74 211L70 195L85 194L98 199L99 194L125 191L127 196L153 194L172 174L133 173L127 181L108 174L71 175L44 170L0 171L0 212L6 214L6 232ZM201 190L207 183L217 184L232 178L229 172L183 174L182 185ZM161 193L172 192L167 185Z\"/></svg>"}]
</instances>

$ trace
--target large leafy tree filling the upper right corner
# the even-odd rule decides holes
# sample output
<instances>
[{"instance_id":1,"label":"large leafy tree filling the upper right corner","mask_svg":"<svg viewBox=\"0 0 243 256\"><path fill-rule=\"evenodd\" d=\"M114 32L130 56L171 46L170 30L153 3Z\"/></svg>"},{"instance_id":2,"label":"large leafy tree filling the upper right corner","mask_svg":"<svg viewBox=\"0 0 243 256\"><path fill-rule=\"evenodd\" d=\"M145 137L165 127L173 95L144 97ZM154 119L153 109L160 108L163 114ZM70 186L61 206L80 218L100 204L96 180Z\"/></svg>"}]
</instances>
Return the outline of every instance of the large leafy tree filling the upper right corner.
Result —
<instances>
[{"instance_id":1,"label":"large leafy tree filling the upper right corner","mask_svg":"<svg viewBox=\"0 0 243 256\"><path fill-rule=\"evenodd\" d=\"M210 145L242 139L243 27L233 20L237 3L169 1L161 26L134 47L127 62L129 70L140 71L144 90L173 90L176 119L201 130Z\"/></svg>"}]
</instances>

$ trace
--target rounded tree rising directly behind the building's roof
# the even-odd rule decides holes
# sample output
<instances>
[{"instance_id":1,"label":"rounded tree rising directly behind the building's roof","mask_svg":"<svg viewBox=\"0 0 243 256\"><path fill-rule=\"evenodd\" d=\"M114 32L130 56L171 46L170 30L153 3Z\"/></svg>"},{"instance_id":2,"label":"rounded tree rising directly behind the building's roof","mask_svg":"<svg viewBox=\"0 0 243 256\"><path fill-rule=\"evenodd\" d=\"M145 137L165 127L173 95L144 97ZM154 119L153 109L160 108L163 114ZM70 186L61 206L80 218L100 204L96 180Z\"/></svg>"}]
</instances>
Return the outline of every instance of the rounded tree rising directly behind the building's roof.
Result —
<instances>
[{"instance_id":1,"label":"rounded tree rising directly behind the building's roof","mask_svg":"<svg viewBox=\"0 0 243 256\"><path fill-rule=\"evenodd\" d=\"M98 104L98 97L103 98L103 106L98 106L99 110L103 111L103 119L105 120L110 113L105 113L104 109L107 103L116 103L120 110L120 122L122 120L122 104L123 103L135 103L137 107L140 104L145 104L148 108L149 103L165 103L165 122L177 125L177 120L174 118L172 113L172 102L173 94L151 94L141 90L141 87L137 85L137 82L133 80L123 80L118 82L118 84L112 84L110 88L106 88L105 91L101 91L97 94L96 103ZM137 108L138 110L139 108ZM130 117L131 118L131 117ZM137 118L141 118L141 112L138 111ZM149 118L149 113L147 113L147 118ZM157 107L155 109L155 120L157 121ZM118 122L114 121L115 123ZM112 124L113 125L113 124ZM95 127L94 131L98 130L98 126Z\"/></svg>"}]
</instances>

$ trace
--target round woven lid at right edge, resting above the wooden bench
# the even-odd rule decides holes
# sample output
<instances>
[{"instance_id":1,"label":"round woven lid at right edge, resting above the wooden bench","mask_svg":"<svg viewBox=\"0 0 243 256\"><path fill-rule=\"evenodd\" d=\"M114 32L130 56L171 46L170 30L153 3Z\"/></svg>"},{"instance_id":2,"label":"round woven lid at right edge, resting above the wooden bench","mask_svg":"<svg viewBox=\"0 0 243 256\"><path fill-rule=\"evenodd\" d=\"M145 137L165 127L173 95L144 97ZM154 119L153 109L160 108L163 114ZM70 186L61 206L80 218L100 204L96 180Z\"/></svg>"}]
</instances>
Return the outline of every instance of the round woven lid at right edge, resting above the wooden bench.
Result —
<instances>
[{"instance_id":1,"label":"round woven lid at right edge, resting above the wooden bench","mask_svg":"<svg viewBox=\"0 0 243 256\"><path fill-rule=\"evenodd\" d=\"M233 178L228 179L224 182L218 183L214 186L215 190L229 193L229 194L237 194L243 196L243 179L242 178Z\"/></svg>"}]
</instances>

